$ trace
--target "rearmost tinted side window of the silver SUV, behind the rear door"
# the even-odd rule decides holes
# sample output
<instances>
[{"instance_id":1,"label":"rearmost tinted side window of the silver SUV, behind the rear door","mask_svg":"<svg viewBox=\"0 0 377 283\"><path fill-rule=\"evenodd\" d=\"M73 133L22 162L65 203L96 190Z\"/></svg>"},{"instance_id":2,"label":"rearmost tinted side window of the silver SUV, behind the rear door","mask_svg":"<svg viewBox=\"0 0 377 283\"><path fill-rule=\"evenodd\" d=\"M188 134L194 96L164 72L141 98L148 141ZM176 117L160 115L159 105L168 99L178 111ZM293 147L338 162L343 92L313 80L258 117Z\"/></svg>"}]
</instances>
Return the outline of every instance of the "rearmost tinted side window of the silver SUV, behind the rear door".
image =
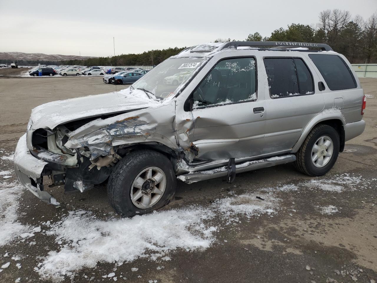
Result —
<instances>
[{"instance_id":1,"label":"rearmost tinted side window of the silver SUV, behind the rear door","mask_svg":"<svg viewBox=\"0 0 377 283\"><path fill-rule=\"evenodd\" d=\"M309 54L332 91L356 88L356 80L346 62L338 55Z\"/></svg>"}]
</instances>

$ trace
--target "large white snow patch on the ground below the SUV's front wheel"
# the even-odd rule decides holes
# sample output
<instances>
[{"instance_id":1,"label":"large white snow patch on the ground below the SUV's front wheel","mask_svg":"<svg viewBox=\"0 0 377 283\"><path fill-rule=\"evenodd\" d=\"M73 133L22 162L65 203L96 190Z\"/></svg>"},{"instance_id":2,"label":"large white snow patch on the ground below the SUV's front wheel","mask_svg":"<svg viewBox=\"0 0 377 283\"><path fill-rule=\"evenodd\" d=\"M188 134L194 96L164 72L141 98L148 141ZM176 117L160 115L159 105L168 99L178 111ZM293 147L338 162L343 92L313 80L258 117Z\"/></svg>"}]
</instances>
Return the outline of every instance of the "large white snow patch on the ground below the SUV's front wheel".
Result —
<instances>
[{"instance_id":1,"label":"large white snow patch on the ground below the SUV's front wheel","mask_svg":"<svg viewBox=\"0 0 377 283\"><path fill-rule=\"evenodd\" d=\"M48 232L56 235L55 241L62 241L63 247L49 252L38 272L44 278L63 278L83 267L94 268L98 262L153 259L153 252L158 257L179 248L206 249L215 240L216 228L203 222L213 217L213 212L202 207L106 220L90 212L70 212Z\"/></svg>"}]
</instances>

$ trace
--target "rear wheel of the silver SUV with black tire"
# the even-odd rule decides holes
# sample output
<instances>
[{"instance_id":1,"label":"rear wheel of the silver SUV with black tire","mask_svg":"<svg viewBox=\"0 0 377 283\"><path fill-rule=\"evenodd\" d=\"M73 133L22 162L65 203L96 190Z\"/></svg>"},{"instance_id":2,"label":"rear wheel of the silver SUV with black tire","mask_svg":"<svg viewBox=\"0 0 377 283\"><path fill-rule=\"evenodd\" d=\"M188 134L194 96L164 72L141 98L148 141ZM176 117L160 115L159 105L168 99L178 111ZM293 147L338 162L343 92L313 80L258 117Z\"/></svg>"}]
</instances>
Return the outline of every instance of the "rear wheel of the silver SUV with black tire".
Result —
<instances>
[{"instance_id":1,"label":"rear wheel of the silver SUV with black tire","mask_svg":"<svg viewBox=\"0 0 377 283\"><path fill-rule=\"evenodd\" d=\"M321 142L322 138L325 143ZM332 148L331 156L329 156L328 159L326 156L323 156L323 165L319 165L317 163L320 163L319 161L321 157L318 157L318 155L316 156L316 149L314 149L314 145L322 143L321 146L326 146L326 143L329 144L329 142L332 142L332 145L328 146L328 148L326 148L325 150L323 150L323 148L322 150L321 148L319 148L318 154L325 154L326 152L330 152L330 149ZM325 175L331 170L331 168L333 168L339 155L339 148L340 138L336 129L328 125L317 125L310 131L307 138L301 145L299 151L297 151L296 161L294 165L299 171L309 176ZM313 161L312 158L317 158L317 160Z\"/></svg>"}]
</instances>

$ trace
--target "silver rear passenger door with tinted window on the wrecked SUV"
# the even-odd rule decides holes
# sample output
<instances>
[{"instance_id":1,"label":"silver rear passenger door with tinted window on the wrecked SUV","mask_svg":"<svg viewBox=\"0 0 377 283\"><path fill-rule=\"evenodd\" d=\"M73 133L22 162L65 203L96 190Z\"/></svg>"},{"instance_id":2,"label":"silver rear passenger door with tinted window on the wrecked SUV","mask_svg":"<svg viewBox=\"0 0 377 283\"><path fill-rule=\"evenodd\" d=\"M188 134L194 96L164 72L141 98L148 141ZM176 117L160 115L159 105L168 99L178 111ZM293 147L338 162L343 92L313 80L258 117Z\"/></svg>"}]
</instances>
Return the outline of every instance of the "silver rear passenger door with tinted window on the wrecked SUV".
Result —
<instances>
[{"instance_id":1,"label":"silver rear passenger door with tinted window on the wrecked SUV","mask_svg":"<svg viewBox=\"0 0 377 283\"><path fill-rule=\"evenodd\" d=\"M305 126L325 106L319 77L307 60L300 54L263 57L270 92L266 94L264 154L291 150Z\"/></svg>"}]
</instances>

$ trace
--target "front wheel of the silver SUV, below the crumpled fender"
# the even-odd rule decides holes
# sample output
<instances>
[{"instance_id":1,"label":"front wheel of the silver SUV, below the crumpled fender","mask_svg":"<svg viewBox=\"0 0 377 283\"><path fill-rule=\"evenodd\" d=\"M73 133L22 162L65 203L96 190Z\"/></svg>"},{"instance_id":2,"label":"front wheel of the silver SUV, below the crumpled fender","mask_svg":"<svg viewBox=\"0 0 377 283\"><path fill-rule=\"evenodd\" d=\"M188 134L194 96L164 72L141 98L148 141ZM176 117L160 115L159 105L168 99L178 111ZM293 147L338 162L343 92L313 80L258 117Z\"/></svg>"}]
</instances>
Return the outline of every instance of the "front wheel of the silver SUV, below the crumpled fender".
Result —
<instances>
[{"instance_id":1,"label":"front wheel of the silver SUV, below the crumpled fender","mask_svg":"<svg viewBox=\"0 0 377 283\"><path fill-rule=\"evenodd\" d=\"M175 187L176 177L170 160L156 151L138 150L115 166L107 194L116 213L132 217L169 203Z\"/></svg>"}]
</instances>

